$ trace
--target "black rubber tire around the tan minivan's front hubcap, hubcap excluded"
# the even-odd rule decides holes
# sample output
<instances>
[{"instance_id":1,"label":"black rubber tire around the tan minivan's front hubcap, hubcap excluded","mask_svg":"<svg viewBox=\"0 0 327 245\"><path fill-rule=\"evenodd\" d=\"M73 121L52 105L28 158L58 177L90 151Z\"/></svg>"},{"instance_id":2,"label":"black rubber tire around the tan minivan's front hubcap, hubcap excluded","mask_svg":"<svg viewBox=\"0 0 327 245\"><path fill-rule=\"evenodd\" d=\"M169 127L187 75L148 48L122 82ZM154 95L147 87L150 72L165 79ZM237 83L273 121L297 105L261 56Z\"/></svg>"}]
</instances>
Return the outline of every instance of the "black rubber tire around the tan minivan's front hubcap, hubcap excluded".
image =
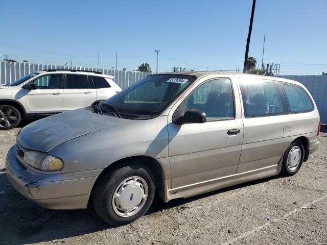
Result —
<instances>
[{"instance_id":1,"label":"black rubber tire around the tan minivan's front hubcap, hubcap excluded","mask_svg":"<svg viewBox=\"0 0 327 245\"><path fill-rule=\"evenodd\" d=\"M148 195L143 207L134 215L122 217L116 214L112 204L113 194L122 181L129 177L141 177L148 187ZM119 226L133 222L143 216L150 208L156 190L153 174L138 163L123 163L107 170L95 186L93 204L97 214L109 225Z\"/></svg>"}]
</instances>

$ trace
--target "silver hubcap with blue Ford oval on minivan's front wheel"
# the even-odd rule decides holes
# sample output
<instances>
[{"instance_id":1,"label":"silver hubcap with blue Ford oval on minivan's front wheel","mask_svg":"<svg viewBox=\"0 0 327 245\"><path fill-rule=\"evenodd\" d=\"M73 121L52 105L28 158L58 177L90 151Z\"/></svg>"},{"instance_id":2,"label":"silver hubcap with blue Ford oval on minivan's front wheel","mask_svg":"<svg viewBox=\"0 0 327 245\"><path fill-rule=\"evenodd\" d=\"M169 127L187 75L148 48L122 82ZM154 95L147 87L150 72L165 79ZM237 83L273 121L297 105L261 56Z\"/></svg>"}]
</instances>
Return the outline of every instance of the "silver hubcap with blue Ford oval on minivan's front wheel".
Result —
<instances>
[{"instance_id":1,"label":"silver hubcap with blue Ford oval on minivan's front wheel","mask_svg":"<svg viewBox=\"0 0 327 245\"><path fill-rule=\"evenodd\" d=\"M141 177L130 177L115 189L112 196L113 211L121 217L139 212L148 198L148 185Z\"/></svg>"}]
</instances>

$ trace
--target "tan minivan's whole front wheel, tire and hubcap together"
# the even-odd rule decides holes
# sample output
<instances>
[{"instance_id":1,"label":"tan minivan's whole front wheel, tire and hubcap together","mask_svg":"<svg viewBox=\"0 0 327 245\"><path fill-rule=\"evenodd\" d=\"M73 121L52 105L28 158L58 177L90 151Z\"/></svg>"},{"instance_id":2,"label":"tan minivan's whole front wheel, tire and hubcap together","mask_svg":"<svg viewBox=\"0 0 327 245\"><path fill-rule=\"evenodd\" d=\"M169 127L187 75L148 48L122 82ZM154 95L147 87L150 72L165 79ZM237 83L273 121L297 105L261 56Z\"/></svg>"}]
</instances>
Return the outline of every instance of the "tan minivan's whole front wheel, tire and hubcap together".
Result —
<instances>
[{"instance_id":1,"label":"tan minivan's whole front wheel, tire and hubcap together","mask_svg":"<svg viewBox=\"0 0 327 245\"><path fill-rule=\"evenodd\" d=\"M94 207L109 225L133 222L150 208L155 180L141 164L124 164L101 176L94 192Z\"/></svg>"}]
</instances>

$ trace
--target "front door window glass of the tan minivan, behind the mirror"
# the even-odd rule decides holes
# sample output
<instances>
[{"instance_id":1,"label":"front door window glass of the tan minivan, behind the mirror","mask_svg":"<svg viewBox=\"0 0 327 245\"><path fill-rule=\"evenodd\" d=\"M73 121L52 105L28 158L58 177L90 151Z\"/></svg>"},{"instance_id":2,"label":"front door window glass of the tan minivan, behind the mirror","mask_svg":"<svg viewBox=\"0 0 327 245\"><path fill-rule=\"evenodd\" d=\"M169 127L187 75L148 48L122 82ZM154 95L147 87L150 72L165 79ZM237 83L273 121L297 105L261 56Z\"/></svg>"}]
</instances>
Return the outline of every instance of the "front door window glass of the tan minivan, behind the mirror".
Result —
<instances>
[{"instance_id":1,"label":"front door window glass of the tan minivan, behind the mirror","mask_svg":"<svg viewBox=\"0 0 327 245\"><path fill-rule=\"evenodd\" d=\"M229 79L201 84L185 100L185 111L204 111L207 120L228 119L234 115L234 98Z\"/></svg>"}]
</instances>

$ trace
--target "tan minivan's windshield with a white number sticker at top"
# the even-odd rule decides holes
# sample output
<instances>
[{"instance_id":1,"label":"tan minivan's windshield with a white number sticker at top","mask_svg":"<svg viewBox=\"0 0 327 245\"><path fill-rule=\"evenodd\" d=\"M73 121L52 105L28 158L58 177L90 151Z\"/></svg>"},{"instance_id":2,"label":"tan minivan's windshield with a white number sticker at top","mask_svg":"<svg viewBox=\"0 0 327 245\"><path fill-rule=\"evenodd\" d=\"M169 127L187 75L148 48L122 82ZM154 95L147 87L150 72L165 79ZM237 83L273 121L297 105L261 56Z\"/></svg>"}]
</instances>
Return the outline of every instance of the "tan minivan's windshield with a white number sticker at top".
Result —
<instances>
[{"instance_id":1,"label":"tan minivan's windshield with a white number sticker at top","mask_svg":"<svg viewBox=\"0 0 327 245\"><path fill-rule=\"evenodd\" d=\"M124 113L156 116L195 79L188 75L151 75L110 97L101 108L110 106L122 117Z\"/></svg>"}]
</instances>

